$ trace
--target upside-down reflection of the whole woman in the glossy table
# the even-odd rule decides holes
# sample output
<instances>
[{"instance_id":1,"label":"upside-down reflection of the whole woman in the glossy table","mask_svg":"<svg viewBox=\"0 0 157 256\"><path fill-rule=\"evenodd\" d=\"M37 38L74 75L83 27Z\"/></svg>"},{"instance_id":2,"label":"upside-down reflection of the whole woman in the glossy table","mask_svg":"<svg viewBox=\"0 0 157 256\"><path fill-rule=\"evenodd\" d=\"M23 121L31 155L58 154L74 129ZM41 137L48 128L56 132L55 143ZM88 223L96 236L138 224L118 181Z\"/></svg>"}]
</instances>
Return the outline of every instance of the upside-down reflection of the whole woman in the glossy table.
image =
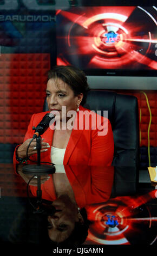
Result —
<instances>
[{"instance_id":1,"label":"upside-down reflection of the whole woman in the glossy table","mask_svg":"<svg viewBox=\"0 0 157 256\"><path fill-rule=\"evenodd\" d=\"M63 170L63 173L57 170ZM64 169L66 173L64 173ZM24 178L23 174L19 172ZM41 185L42 198L52 201L57 212L48 216L48 234L57 243L82 243L88 235L86 208L109 199L113 184L113 167L56 166ZM33 181L34 182L34 181ZM37 187L30 186L36 196Z\"/></svg>"}]
</instances>

